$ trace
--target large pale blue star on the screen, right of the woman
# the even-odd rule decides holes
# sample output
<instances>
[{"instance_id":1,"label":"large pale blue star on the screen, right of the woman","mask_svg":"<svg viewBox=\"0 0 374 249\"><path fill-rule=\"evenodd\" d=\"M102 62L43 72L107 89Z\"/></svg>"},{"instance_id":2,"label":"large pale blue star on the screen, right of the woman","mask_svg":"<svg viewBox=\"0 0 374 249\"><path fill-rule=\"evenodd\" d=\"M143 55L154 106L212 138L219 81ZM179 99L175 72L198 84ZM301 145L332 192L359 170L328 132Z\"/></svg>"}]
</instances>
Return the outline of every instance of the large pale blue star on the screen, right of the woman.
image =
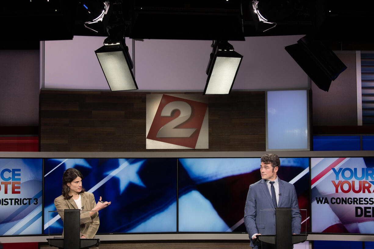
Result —
<instances>
[{"instance_id":1,"label":"large pale blue star on the screen, right of the woman","mask_svg":"<svg viewBox=\"0 0 374 249\"><path fill-rule=\"evenodd\" d=\"M145 160L142 160L134 164L129 164L126 159L118 159L118 163L120 166L117 169L106 172L105 174L112 174L119 179L121 194L130 182L133 182L134 184L145 188L145 185L143 184L137 173L144 162Z\"/></svg>"}]
</instances>

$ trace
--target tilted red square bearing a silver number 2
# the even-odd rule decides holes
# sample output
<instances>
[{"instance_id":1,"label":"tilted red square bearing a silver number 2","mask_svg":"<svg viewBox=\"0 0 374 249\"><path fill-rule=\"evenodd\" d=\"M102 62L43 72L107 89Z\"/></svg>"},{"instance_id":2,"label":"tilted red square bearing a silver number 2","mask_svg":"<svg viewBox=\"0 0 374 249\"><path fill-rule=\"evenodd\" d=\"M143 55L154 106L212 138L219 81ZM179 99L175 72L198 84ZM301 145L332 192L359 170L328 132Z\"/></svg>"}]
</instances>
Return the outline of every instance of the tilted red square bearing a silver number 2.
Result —
<instances>
[{"instance_id":1,"label":"tilted red square bearing a silver number 2","mask_svg":"<svg viewBox=\"0 0 374 249\"><path fill-rule=\"evenodd\" d=\"M147 139L196 148L207 108L203 102L162 95Z\"/></svg>"}]
</instances>

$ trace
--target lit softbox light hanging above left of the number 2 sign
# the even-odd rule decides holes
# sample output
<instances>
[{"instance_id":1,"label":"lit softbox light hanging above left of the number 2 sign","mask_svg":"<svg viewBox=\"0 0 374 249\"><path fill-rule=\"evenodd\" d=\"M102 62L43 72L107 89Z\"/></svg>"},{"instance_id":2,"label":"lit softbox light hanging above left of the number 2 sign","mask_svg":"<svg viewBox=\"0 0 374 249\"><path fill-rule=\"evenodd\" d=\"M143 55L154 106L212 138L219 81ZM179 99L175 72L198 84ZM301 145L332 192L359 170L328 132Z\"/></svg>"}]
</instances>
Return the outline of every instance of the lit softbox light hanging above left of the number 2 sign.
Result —
<instances>
[{"instance_id":1,"label":"lit softbox light hanging above left of the number 2 sign","mask_svg":"<svg viewBox=\"0 0 374 249\"><path fill-rule=\"evenodd\" d=\"M95 53L111 91L138 89L125 38L113 42L108 37L104 41L104 46L95 50Z\"/></svg>"}]
</instances>

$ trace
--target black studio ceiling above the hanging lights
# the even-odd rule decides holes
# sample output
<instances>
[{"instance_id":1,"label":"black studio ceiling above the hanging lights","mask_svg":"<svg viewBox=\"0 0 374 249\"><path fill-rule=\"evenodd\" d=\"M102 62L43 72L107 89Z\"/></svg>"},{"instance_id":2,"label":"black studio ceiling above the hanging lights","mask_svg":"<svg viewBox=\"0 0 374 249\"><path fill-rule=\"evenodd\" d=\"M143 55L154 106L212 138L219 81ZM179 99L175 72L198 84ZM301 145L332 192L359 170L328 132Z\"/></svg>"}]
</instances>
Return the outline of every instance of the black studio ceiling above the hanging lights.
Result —
<instances>
[{"instance_id":1,"label":"black studio ceiling above the hanging lights","mask_svg":"<svg viewBox=\"0 0 374 249\"><path fill-rule=\"evenodd\" d=\"M1 49L39 49L40 40L107 37L107 27L134 39L244 40L250 36L307 34L333 50L374 50L371 1L258 0L260 23L249 0L116 0L98 33L84 27L103 1L22 0L1 4ZM93 9L93 7L92 7ZM97 10L99 11L99 10Z\"/></svg>"}]
</instances>

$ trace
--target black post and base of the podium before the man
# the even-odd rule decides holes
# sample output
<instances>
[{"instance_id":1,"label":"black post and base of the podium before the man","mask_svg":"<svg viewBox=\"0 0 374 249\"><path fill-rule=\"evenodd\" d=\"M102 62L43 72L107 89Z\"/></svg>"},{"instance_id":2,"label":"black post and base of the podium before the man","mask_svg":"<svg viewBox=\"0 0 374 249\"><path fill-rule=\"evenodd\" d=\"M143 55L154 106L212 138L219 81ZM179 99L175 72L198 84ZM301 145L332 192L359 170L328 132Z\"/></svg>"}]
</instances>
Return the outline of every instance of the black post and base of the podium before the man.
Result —
<instances>
[{"instance_id":1,"label":"black post and base of the podium before the man","mask_svg":"<svg viewBox=\"0 0 374 249\"><path fill-rule=\"evenodd\" d=\"M295 212L295 210L293 211ZM271 212L275 212L275 234L263 235L260 231L261 235L256 236L255 243L265 245L263 248L270 244L275 249L292 249L292 244L306 241L307 234L292 234L291 208L277 207L272 210L264 210L263 215L270 215Z\"/></svg>"}]
</instances>

